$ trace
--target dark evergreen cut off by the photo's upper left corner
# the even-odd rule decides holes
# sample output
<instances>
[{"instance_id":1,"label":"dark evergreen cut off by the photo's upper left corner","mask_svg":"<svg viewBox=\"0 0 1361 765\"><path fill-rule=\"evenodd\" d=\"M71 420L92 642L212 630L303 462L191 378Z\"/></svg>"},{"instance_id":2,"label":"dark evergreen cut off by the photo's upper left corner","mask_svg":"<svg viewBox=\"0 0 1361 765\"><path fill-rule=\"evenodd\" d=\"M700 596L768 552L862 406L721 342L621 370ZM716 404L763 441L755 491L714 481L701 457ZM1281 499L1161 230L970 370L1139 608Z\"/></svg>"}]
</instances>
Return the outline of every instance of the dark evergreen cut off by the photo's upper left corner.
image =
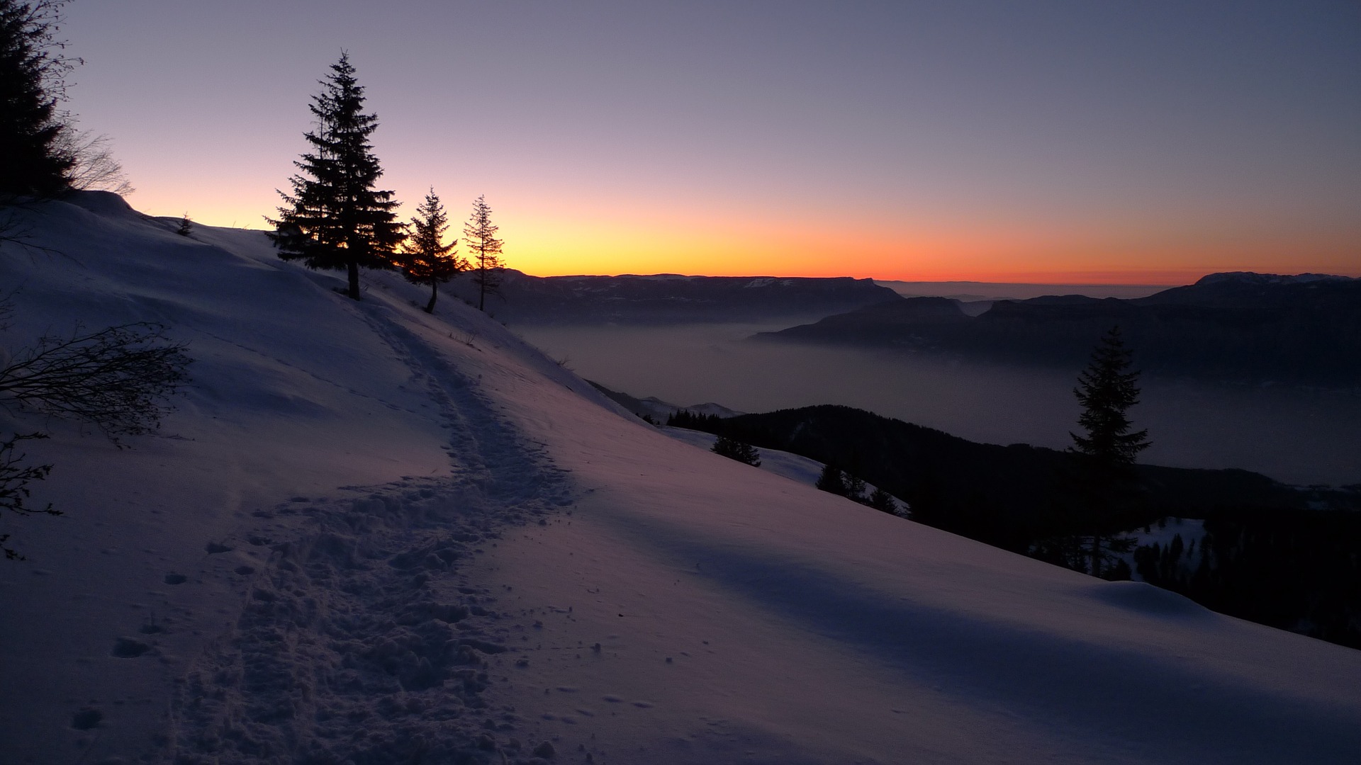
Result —
<instances>
[{"instance_id":1,"label":"dark evergreen cut off by the photo's upper left corner","mask_svg":"<svg viewBox=\"0 0 1361 765\"><path fill-rule=\"evenodd\" d=\"M57 103L79 59L56 38L64 0L0 0L0 201L50 196L68 186L75 157Z\"/></svg>"}]
</instances>

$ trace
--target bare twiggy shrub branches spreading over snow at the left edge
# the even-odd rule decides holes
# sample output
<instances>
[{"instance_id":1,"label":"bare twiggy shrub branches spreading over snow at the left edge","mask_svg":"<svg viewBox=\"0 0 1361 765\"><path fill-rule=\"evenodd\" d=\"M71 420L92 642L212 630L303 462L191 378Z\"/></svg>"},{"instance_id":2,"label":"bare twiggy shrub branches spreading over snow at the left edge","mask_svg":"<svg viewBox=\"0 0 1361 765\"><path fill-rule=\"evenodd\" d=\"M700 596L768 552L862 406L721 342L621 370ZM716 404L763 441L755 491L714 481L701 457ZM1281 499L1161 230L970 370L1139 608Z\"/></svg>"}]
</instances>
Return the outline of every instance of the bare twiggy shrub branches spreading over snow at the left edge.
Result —
<instances>
[{"instance_id":1,"label":"bare twiggy shrub branches spreading over snow at the left edge","mask_svg":"<svg viewBox=\"0 0 1361 765\"><path fill-rule=\"evenodd\" d=\"M152 433L188 378L189 355L159 324L44 336L0 369L0 400L88 422L114 442Z\"/></svg>"}]
</instances>

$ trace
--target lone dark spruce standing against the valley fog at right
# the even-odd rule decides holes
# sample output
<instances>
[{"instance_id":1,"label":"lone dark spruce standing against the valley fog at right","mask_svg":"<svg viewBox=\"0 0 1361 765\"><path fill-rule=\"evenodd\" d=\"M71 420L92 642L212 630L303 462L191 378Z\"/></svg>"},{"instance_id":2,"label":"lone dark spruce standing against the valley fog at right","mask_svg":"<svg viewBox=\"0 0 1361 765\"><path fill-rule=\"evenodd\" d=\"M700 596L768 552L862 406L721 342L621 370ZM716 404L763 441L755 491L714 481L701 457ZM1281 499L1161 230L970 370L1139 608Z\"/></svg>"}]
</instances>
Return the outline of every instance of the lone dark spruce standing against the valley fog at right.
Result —
<instances>
[{"instance_id":1,"label":"lone dark spruce standing against the valley fog at right","mask_svg":"<svg viewBox=\"0 0 1361 765\"><path fill-rule=\"evenodd\" d=\"M1081 489L1092 528L1092 576L1102 574L1101 566L1109 553L1128 547L1128 540L1112 534L1109 525L1117 523L1117 505L1134 481L1130 466L1150 445L1149 432L1131 432L1134 426L1126 414L1139 402L1139 373L1130 369L1130 358L1120 328L1112 327L1092 351L1092 362L1072 389L1082 404L1078 425L1086 433L1068 436L1072 437L1071 451L1081 457Z\"/></svg>"}]
</instances>

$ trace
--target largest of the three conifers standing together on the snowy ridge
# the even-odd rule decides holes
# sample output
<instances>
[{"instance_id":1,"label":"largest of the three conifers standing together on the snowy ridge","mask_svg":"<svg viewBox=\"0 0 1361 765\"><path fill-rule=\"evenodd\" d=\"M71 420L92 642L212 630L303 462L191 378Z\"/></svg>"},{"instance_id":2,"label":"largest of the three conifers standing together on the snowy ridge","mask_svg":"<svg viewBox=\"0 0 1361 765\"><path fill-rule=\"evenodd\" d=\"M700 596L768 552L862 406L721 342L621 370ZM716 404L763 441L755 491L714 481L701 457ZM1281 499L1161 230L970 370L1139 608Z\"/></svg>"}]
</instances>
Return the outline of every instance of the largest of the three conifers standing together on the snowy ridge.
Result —
<instances>
[{"instance_id":1,"label":"largest of the three conifers standing together on the snowy ridge","mask_svg":"<svg viewBox=\"0 0 1361 765\"><path fill-rule=\"evenodd\" d=\"M378 127L363 113L363 87L354 76L347 53L321 80L312 99L317 129L304 136L313 151L294 165L301 170L279 192L284 206L269 238L283 260L302 260L308 268L346 271L348 295L359 299L359 268L391 268L391 257L404 238L396 221L391 191L377 191L382 176L369 136Z\"/></svg>"}]
</instances>

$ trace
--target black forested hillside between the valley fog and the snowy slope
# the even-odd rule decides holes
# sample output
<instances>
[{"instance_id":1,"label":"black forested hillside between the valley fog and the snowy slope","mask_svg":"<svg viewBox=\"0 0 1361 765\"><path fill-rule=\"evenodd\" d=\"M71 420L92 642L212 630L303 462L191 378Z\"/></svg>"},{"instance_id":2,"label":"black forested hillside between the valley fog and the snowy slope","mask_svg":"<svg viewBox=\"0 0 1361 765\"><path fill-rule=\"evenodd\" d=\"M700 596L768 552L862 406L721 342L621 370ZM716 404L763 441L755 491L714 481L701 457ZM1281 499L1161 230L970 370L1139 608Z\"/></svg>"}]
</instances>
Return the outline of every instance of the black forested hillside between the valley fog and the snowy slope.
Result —
<instances>
[{"instance_id":1,"label":"black forested hillside between the valley fog and the snowy slope","mask_svg":"<svg viewBox=\"0 0 1361 765\"><path fill-rule=\"evenodd\" d=\"M1090 557L1081 536L1090 520L1077 512L1082 504L1072 481L1079 455L1071 452L974 444L838 406L732 418L678 412L672 422L822 463L857 456L866 481L905 500L916 521L1070 568L1079 568ZM1243 550L1215 554L1215 561L1229 561L1218 580L1209 580L1219 589L1209 584L1196 589L1190 584L1194 569L1161 579L1146 574L1149 581L1162 584L1181 576L1188 584L1179 591L1210 608L1350 645L1353 638L1345 630L1356 629L1361 603L1356 595L1361 583L1356 572L1361 487L1301 490L1241 470L1141 464L1131 470L1142 487L1141 501L1119 508L1102 531L1132 530L1165 516L1209 517L1213 521L1207 528ZM1271 520L1260 525L1255 519ZM1290 523L1277 523L1279 519L1293 519L1305 531L1297 534ZM1226 524L1255 531L1229 536L1219 531ZM1224 544L1228 542L1218 538L1209 542L1211 551ZM1315 559L1307 559L1311 555ZM1271 573L1260 573L1264 570ZM1112 564L1104 576L1128 579L1130 573L1127 566ZM1345 623L1353 626L1341 626Z\"/></svg>"}]
</instances>

